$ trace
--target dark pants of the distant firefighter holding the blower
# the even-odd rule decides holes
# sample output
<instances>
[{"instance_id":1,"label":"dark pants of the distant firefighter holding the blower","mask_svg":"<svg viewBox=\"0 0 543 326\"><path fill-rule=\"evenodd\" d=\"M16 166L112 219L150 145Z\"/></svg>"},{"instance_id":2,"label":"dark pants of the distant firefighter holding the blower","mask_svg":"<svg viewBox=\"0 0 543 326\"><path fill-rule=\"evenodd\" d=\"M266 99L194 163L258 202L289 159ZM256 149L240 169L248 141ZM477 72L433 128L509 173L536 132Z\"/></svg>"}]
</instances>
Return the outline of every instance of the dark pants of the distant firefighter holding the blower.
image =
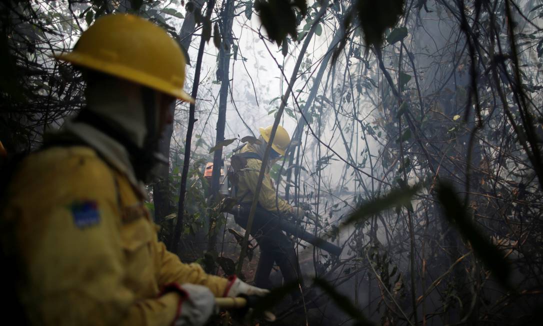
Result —
<instances>
[{"instance_id":1,"label":"dark pants of the distant firefighter holding the blower","mask_svg":"<svg viewBox=\"0 0 543 326\"><path fill-rule=\"evenodd\" d=\"M247 228L250 210L250 204L241 205L239 210L234 208L236 223L243 228ZM260 246L260 260L256 268L255 284L264 289L271 289L269 275L274 262L281 269L285 283L297 280L299 284L303 285L294 244L278 227L279 218L279 216L258 205L252 221L251 235ZM293 293L293 297L299 295L298 291L295 292L298 294Z\"/></svg>"}]
</instances>

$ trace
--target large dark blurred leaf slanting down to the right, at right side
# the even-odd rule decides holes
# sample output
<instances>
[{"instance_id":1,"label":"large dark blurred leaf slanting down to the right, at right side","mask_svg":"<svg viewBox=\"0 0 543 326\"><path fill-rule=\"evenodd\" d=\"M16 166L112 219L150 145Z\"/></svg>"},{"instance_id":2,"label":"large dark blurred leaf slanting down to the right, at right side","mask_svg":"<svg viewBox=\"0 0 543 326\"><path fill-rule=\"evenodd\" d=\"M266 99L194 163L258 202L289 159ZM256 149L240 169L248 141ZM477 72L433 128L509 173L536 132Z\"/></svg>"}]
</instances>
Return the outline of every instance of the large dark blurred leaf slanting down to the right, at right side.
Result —
<instances>
[{"instance_id":1,"label":"large dark blurred leaf slanting down to the right, at right side","mask_svg":"<svg viewBox=\"0 0 543 326\"><path fill-rule=\"evenodd\" d=\"M462 204L453 187L446 182L440 182L437 187L437 198L443 208L447 220L454 225L468 240L475 253L483 264L492 271L496 279L506 289L511 289L509 275L511 272L509 261L504 254L494 246L488 236L469 218L468 211Z\"/></svg>"}]
</instances>

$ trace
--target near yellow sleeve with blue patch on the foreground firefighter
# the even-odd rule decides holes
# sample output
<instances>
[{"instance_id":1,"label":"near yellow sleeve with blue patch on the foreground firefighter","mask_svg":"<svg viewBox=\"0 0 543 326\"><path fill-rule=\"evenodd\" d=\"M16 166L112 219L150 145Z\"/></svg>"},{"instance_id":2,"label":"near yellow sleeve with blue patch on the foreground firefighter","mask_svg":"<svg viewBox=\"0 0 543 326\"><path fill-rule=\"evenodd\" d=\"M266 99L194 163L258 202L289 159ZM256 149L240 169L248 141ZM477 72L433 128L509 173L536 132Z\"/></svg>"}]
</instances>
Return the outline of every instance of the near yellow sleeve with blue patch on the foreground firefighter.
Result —
<instances>
[{"instance_id":1,"label":"near yellow sleeve with blue patch on the foreground firefighter","mask_svg":"<svg viewBox=\"0 0 543 326\"><path fill-rule=\"evenodd\" d=\"M21 301L33 324L171 324L176 296L137 300L125 284L115 182L92 151L31 155L8 196L2 218L15 225Z\"/></svg>"}]
</instances>

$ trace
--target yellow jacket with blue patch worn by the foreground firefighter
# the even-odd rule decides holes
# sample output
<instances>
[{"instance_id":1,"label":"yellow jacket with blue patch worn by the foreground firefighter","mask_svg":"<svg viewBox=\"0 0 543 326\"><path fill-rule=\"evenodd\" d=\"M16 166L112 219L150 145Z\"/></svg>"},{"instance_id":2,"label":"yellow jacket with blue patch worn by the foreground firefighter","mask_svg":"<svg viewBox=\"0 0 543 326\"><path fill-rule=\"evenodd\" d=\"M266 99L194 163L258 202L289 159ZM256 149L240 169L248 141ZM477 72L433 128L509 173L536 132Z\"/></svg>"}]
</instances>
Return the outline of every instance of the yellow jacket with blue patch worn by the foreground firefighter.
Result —
<instances>
[{"instance_id":1,"label":"yellow jacket with blue patch worn by the foreground firefighter","mask_svg":"<svg viewBox=\"0 0 543 326\"><path fill-rule=\"evenodd\" d=\"M165 284L228 280L182 264L157 241L142 196L90 147L52 147L21 162L3 211L12 224L33 324L169 325L176 296ZM3 267L5 268L5 267Z\"/></svg>"}]
</instances>

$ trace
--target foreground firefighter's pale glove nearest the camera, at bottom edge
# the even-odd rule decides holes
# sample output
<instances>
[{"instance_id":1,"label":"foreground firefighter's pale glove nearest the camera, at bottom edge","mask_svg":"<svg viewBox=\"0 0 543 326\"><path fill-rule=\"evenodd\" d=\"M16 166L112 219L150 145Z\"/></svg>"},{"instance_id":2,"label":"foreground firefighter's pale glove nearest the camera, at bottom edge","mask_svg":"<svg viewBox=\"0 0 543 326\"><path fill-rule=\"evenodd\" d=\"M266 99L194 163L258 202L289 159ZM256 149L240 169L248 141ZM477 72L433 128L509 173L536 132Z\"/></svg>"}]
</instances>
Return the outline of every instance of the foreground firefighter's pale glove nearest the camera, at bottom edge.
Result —
<instances>
[{"instance_id":1,"label":"foreground firefighter's pale glove nearest the camera, at bottom edge","mask_svg":"<svg viewBox=\"0 0 543 326\"><path fill-rule=\"evenodd\" d=\"M169 291L181 297L172 326L203 326L218 312L215 296L205 286L172 283L166 286L166 292Z\"/></svg>"}]
</instances>

